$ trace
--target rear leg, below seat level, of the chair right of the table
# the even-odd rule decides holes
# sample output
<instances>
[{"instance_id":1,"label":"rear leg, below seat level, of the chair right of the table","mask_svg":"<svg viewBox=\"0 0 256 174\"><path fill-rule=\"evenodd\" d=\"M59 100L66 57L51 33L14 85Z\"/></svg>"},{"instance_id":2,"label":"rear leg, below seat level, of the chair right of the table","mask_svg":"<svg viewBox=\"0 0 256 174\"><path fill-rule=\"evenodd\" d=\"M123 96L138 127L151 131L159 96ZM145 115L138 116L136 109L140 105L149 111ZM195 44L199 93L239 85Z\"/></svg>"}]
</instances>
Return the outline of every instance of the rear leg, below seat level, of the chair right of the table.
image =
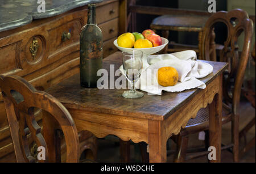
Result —
<instances>
[{"instance_id":1,"label":"rear leg, below seat level, of the chair right of the table","mask_svg":"<svg viewBox=\"0 0 256 174\"><path fill-rule=\"evenodd\" d=\"M233 116L232 120L232 142L233 142L233 160L239 162L239 115Z\"/></svg>"}]
</instances>

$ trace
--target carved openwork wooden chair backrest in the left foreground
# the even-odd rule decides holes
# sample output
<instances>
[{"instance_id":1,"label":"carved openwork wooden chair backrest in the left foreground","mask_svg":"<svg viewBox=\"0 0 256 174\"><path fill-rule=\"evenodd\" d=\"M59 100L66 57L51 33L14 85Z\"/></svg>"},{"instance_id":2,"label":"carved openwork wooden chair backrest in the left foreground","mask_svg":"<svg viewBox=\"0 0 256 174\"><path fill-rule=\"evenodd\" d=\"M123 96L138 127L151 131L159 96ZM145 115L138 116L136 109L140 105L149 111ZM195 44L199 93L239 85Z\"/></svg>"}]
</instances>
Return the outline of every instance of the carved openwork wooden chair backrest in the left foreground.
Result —
<instances>
[{"instance_id":1,"label":"carved openwork wooden chair backrest in the left foreground","mask_svg":"<svg viewBox=\"0 0 256 174\"><path fill-rule=\"evenodd\" d=\"M37 91L26 80L15 75L1 75L0 88L17 162L48 162L49 150L41 133L41 127L35 120L35 109L42 109L55 118L63 131L67 144L66 162L78 162L77 129L69 112L57 99L46 92ZM31 139L38 147L45 148L46 160L38 160L35 155L31 154L29 147Z\"/></svg>"}]
</instances>

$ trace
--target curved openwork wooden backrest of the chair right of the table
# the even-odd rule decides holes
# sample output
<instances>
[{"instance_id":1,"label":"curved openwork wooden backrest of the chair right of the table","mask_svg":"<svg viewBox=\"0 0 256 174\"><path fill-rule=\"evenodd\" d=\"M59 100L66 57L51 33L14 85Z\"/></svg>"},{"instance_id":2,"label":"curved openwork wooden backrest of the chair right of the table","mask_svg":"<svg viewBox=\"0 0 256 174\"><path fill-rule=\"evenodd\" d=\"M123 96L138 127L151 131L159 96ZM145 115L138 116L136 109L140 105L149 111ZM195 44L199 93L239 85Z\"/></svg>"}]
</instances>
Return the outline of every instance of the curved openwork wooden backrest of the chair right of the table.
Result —
<instances>
[{"instance_id":1,"label":"curved openwork wooden backrest of the chair right of the table","mask_svg":"<svg viewBox=\"0 0 256 174\"><path fill-rule=\"evenodd\" d=\"M229 70L226 70L223 75L223 96L226 102L232 104L233 113L238 114L241 87L253 37L253 22L241 9L229 12L219 11L211 15L205 23L201 40L201 57L205 60L210 60L210 42L216 23L224 23L228 28L228 37L220 55L220 61L229 63ZM245 33L245 37L240 57L237 39L242 32Z\"/></svg>"}]
</instances>

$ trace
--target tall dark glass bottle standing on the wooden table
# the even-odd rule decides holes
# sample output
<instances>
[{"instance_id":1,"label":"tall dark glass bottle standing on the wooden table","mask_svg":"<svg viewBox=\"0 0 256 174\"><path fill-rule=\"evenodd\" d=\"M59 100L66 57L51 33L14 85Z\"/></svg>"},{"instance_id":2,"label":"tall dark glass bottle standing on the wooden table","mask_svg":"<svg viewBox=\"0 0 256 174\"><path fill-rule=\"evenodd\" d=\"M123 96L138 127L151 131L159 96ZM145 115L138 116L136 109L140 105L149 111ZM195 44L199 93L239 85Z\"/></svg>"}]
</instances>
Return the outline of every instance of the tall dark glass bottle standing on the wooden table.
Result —
<instances>
[{"instance_id":1,"label":"tall dark glass bottle standing on the wooden table","mask_svg":"<svg viewBox=\"0 0 256 174\"><path fill-rule=\"evenodd\" d=\"M88 6L87 24L80 34L80 82L82 87L97 87L97 71L102 69L103 38L96 24L96 5Z\"/></svg>"}]
</instances>

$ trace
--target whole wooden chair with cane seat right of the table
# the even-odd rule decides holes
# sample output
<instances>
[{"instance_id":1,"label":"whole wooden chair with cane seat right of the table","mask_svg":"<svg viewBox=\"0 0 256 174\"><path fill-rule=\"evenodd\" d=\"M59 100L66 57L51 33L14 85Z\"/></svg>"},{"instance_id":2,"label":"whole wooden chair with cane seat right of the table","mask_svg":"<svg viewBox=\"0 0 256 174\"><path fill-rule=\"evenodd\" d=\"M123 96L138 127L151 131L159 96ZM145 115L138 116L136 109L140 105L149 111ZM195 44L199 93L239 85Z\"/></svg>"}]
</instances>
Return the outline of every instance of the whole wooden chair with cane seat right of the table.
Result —
<instances>
[{"instance_id":1,"label":"whole wooden chair with cane seat right of the table","mask_svg":"<svg viewBox=\"0 0 256 174\"><path fill-rule=\"evenodd\" d=\"M221 51L220 61L229 62L229 69L223 75L223 111L222 124L232 122L232 143L223 146L222 149L232 147L234 162L239 160L239 115L240 115L240 95L243 83L243 77L250 53L250 45L253 36L253 22L249 19L248 14L240 9L229 12L220 11L213 14L205 23L201 41L201 56L205 60L216 61L210 53L211 33L214 24L222 22L228 28L228 39L225 41L224 49ZM242 49L241 58L238 57L237 38L241 33L245 33L245 39ZM216 54L215 54L216 55ZM208 108L200 109L195 119L189 120L187 126L181 130L180 134L175 136L177 150L175 162L183 162L187 153L188 135L205 131L207 133L205 140L205 150L208 150L209 141L209 111ZM208 154L207 151L200 152L200 155ZM193 155L192 157L196 157Z\"/></svg>"}]
</instances>

